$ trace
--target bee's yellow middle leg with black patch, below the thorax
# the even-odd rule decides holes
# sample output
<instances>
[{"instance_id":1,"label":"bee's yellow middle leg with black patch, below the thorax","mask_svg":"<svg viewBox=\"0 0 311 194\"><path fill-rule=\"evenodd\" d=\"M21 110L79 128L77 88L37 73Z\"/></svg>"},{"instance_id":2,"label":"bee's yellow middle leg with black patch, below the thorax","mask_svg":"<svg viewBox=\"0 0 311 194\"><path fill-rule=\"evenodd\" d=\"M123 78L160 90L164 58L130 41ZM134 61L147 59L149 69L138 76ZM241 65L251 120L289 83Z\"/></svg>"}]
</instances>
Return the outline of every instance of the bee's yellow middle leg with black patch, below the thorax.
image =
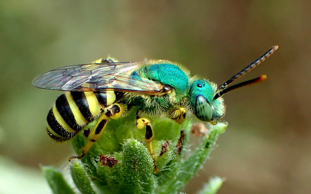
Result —
<instances>
[{"instance_id":1,"label":"bee's yellow middle leg with black patch, below the thorax","mask_svg":"<svg viewBox=\"0 0 311 194\"><path fill-rule=\"evenodd\" d=\"M138 111L137 111L138 113ZM149 152L150 152L150 156L153 160L153 163L155 165L155 172L158 172L158 167L156 166L156 157L153 151L153 147L152 147L152 140L154 138L154 131L152 129L150 120L146 119L146 118L139 118L138 115L136 117L136 126L138 129L142 129L144 126L146 126L146 134L145 134L145 138L146 138L146 142L148 144L148 148L149 148Z\"/></svg>"}]
</instances>

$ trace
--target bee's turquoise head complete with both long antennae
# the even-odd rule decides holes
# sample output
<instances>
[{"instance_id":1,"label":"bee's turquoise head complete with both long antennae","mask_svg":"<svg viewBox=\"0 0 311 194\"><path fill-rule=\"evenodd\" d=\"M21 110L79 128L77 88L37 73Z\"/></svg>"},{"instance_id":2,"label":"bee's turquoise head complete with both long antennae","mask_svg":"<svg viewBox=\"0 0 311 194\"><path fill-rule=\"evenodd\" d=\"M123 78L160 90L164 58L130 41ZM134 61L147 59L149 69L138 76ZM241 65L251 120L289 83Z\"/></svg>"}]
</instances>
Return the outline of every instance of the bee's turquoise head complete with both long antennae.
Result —
<instances>
[{"instance_id":1,"label":"bee's turquoise head complete with both long antennae","mask_svg":"<svg viewBox=\"0 0 311 194\"><path fill-rule=\"evenodd\" d=\"M229 86L235 80L239 79L248 71L255 68L262 61L267 59L279 46L271 47L258 59L246 66L243 70L232 76L218 88L215 83L211 83L205 79L194 80L189 88L189 101L194 114L199 120L208 121L211 124L217 124L217 120L225 114L225 105L222 96L236 88L241 88L253 83L258 83L267 78L266 75L261 75L258 78L250 79L235 85Z\"/></svg>"}]
</instances>

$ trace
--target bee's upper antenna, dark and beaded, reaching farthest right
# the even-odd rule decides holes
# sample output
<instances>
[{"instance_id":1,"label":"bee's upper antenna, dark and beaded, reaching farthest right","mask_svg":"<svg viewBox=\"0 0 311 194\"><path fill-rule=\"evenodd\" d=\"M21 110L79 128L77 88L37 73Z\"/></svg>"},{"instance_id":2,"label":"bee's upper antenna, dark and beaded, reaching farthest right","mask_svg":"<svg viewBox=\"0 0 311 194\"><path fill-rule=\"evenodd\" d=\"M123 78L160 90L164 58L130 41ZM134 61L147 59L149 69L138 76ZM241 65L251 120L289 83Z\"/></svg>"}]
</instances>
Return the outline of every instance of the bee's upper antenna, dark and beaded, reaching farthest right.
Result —
<instances>
[{"instance_id":1,"label":"bee's upper antenna, dark and beaded, reaching farthest right","mask_svg":"<svg viewBox=\"0 0 311 194\"><path fill-rule=\"evenodd\" d=\"M244 74L246 74L247 72L249 72L250 70L252 70L253 68L255 68L257 65L259 65L262 61L264 61L265 59L267 59L270 55L272 55L272 53L274 51L276 51L276 49L278 48L279 46L277 45L274 45L273 47L271 47L267 52L265 52L265 54L263 54L262 56L260 56L258 59L256 59L255 61L253 61L251 64L249 64L247 67L245 67L243 70L239 71L237 74L235 74L234 76L232 76L230 79L228 79L228 81L226 81L225 83L221 84L218 89L217 89L217 94L219 94L222 90L224 90L225 88L228 87L228 85L230 85L232 82L234 82L235 80L239 79L240 77L242 77ZM258 79L258 78L256 78ZM253 80L253 79L252 79ZM249 80L251 81L251 80ZM248 81L246 81L248 82ZM244 82L242 82L244 83ZM250 84L250 83L248 83ZM246 84L246 85L248 85ZM238 85L238 84L236 84ZM241 86L240 86L241 87ZM239 87L236 87L236 88L239 88ZM235 88L233 88L235 89ZM231 90L233 90L231 89ZM229 90L230 91L230 90ZM229 92L227 91L227 92ZM226 92L226 93L227 93ZM222 92L223 93L223 92ZM216 94L216 95L217 95ZM224 93L223 93L224 94ZM222 95L223 95L222 94ZM216 97L215 95L215 97Z\"/></svg>"}]
</instances>

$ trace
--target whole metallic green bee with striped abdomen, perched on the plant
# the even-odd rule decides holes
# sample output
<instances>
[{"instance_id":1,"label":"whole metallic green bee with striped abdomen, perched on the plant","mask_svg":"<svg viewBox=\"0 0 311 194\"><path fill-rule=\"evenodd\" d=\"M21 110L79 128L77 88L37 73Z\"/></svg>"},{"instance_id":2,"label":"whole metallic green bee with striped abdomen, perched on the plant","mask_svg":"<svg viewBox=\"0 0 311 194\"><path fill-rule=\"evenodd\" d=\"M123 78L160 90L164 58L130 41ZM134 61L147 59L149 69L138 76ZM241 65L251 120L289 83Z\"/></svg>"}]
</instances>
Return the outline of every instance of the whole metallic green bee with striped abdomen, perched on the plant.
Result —
<instances>
[{"instance_id":1,"label":"whole metallic green bee with striped abdomen, perched on the plant","mask_svg":"<svg viewBox=\"0 0 311 194\"><path fill-rule=\"evenodd\" d=\"M54 140L67 141L99 118L94 129L86 133L89 140L81 156L70 157L70 160L86 155L103 134L110 118L122 117L135 106L138 109L137 128L146 126L146 142L155 161L154 131L147 118L161 115L181 124L186 115L195 115L197 120L216 124L225 114L222 95L262 81L266 76L228 85L259 65L277 48L273 46L219 87L207 79L190 77L189 70L171 61L115 62L111 59L60 67L38 76L32 84L37 88L67 91L57 98L47 116L47 132Z\"/></svg>"}]
</instances>

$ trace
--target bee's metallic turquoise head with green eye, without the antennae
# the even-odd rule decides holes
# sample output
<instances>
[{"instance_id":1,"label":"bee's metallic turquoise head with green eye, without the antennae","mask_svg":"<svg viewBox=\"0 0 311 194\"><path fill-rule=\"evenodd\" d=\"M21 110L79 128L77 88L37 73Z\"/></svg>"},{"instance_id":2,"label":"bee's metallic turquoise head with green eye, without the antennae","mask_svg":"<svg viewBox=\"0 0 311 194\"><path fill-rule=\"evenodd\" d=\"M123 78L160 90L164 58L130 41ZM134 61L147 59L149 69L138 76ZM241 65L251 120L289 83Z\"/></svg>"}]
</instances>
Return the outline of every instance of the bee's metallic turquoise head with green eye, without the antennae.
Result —
<instances>
[{"instance_id":1,"label":"bee's metallic turquoise head with green eye, without the antennae","mask_svg":"<svg viewBox=\"0 0 311 194\"><path fill-rule=\"evenodd\" d=\"M194 114L201 121L216 124L225 114L223 98L214 100L217 86L205 79L195 80L189 88L189 101Z\"/></svg>"}]
</instances>

